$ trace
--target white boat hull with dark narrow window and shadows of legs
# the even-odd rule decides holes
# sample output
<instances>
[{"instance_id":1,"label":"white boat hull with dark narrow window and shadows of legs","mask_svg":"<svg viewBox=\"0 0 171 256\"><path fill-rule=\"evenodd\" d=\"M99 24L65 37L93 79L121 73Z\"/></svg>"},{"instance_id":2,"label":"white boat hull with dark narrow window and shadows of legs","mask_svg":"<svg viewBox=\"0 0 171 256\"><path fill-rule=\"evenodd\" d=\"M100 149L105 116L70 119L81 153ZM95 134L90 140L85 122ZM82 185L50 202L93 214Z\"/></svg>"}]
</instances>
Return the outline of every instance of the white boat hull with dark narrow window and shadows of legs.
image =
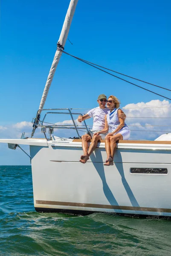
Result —
<instances>
[{"instance_id":1,"label":"white boat hull with dark narrow window and shadows of legs","mask_svg":"<svg viewBox=\"0 0 171 256\"><path fill-rule=\"evenodd\" d=\"M104 166L104 143L86 164L79 162L81 142L31 145L35 209L171 216L171 145L119 145L113 166ZM130 168L168 173L134 174Z\"/></svg>"}]
</instances>

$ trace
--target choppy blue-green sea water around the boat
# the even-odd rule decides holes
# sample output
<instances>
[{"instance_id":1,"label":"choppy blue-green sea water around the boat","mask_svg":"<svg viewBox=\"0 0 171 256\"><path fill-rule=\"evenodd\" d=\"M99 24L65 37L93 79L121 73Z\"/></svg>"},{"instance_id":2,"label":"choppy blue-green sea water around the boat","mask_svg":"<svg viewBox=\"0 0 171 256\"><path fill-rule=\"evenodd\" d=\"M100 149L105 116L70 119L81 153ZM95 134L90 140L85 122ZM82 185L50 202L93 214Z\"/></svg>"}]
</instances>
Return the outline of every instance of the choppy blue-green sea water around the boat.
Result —
<instances>
[{"instance_id":1,"label":"choppy blue-green sea water around the boat","mask_svg":"<svg viewBox=\"0 0 171 256\"><path fill-rule=\"evenodd\" d=\"M38 213L31 166L0 166L0 256L169 256L171 220Z\"/></svg>"}]
</instances>

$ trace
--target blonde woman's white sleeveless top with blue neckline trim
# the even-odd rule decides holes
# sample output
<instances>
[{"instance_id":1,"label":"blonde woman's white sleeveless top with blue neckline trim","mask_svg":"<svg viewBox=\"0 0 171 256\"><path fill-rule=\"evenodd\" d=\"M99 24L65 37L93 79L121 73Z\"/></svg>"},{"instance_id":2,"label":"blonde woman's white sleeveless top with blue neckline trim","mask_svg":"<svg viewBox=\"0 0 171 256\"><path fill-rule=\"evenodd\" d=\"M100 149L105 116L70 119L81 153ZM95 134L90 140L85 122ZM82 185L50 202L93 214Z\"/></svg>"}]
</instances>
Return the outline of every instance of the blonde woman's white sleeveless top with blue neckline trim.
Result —
<instances>
[{"instance_id":1,"label":"blonde woman's white sleeveless top with blue neckline trim","mask_svg":"<svg viewBox=\"0 0 171 256\"><path fill-rule=\"evenodd\" d=\"M116 128L118 128L118 126L120 125L118 110L119 108L115 108L111 113L107 113L107 124L109 125L109 130L111 130L112 132L115 131ZM124 123L124 127L120 131L122 131L123 129L129 129L126 123Z\"/></svg>"}]
</instances>

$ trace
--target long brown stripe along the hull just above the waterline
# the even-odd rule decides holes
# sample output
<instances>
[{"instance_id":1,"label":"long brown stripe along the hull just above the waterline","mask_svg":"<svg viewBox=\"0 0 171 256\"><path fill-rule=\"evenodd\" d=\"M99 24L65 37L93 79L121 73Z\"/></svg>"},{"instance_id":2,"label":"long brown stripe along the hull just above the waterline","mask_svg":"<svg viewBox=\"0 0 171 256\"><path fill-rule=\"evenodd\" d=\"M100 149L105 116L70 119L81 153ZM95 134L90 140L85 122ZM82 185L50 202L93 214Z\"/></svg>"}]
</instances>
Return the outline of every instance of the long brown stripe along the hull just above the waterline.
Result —
<instances>
[{"instance_id":1,"label":"long brown stripe along the hull just above the waterline","mask_svg":"<svg viewBox=\"0 0 171 256\"><path fill-rule=\"evenodd\" d=\"M167 209L167 208L133 207L133 206L119 206L119 205L108 205L108 204L84 204L84 203L72 203L72 202L41 201L41 200L36 200L36 204L89 207L89 208L101 208L101 209L120 209L120 210L143 211L143 212L171 212L171 209Z\"/></svg>"}]
</instances>

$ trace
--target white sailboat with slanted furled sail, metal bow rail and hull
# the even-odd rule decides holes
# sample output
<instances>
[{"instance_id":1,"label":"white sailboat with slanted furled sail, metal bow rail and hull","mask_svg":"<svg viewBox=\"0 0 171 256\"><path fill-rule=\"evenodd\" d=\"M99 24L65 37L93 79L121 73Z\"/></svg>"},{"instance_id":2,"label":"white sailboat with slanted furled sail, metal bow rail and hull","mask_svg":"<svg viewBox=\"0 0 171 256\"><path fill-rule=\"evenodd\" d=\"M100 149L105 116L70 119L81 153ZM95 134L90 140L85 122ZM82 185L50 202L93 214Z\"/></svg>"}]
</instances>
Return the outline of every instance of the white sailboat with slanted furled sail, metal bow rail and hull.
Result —
<instances>
[{"instance_id":1,"label":"white sailboat with slanted furled sail, metal bow rail and hull","mask_svg":"<svg viewBox=\"0 0 171 256\"><path fill-rule=\"evenodd\" d=\"M31 137L1 139L15 149L29 145L32 164L34 207L38 212L89 214L113 212L128 215L171 216L171 134L155 141L122 140L117 144L113 166L104 166L104 140L101 140L86 165L79 162L81 136L69 108L43 109L56 67L64 50L78 0L71 0L58 40L58 48L46 81ZM43 119L40 116L46 111ZM46 124L50 114L70 115L77 138L53 136L55 128ZM34 138L41 127L43 139ZM84 121L84 129L87 130ZM49 131L49 138L47 138Z\"/></svg>"}]
</instances>

